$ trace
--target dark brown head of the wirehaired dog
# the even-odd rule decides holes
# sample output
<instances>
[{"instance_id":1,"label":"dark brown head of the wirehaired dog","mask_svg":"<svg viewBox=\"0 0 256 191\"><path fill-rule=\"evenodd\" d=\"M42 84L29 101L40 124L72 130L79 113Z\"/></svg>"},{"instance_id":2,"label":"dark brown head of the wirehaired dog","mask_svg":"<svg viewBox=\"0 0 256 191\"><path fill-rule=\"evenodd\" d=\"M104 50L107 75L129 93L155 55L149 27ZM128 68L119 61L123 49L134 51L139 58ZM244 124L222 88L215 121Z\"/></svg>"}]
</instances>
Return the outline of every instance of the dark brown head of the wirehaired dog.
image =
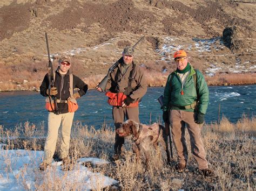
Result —
<instances>
[{"instance_id":1,"label":"dark brown head of the wirehaired dog","mask_svg":"<svg viewBox=\"0 0 256 191\"><path fill-rule=\"evenodd\" d=\"M138 136L139 124L128 119L126 122L122 123L120 128L116 130L119 137L127 137L133 135L134 137Z\"/></svg>"}]
</instances>

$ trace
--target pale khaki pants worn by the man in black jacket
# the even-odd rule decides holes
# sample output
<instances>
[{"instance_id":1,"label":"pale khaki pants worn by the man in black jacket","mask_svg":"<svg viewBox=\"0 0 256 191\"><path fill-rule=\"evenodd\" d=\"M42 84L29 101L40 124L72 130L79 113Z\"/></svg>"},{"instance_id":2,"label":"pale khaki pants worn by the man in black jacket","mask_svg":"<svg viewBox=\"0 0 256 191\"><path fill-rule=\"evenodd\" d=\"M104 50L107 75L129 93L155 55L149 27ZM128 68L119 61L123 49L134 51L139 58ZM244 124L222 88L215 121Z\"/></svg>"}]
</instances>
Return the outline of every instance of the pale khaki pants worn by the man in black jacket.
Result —
<instances>
[{"instance_id":1,"label":"pale khaki pants worn by the man in black jacket","mask_svg":"<svg viewBox=\"0 0 256 191\"><path fill-rule=\"evenodd\" d=\"M51 163L53 154L56 149L58 130L60 124L62 125L61 135L62 139L60 141L60 155L59 158L63 159L69 154L69 142L70 133L73 123L73 117L75 112L68 112L66 114L53 114L49 112L48 116L48 136L45 141L44 146L44 161Z\"/></svg>"}]
</instances>

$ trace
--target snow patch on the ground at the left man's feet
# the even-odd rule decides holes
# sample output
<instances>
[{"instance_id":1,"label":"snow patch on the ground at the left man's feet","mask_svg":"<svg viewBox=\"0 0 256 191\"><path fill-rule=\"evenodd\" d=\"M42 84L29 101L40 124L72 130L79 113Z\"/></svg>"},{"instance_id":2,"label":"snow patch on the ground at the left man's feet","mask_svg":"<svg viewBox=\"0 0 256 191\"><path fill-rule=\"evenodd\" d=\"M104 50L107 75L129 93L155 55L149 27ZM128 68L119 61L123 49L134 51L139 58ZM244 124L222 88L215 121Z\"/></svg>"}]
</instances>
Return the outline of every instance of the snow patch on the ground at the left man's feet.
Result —
<instances>
[{"instance_id":1,"label":"snow patch on the ground at the left man's feet","mask_svg":"<svg viewBox=\"0 0 256 191\"><path fill-rule=\"evenodd\" d=\"M2 145L1 145L2 147ZM98 158L81 158L72 171L62 171L62 162L52 162L46 171L39 171L43 151L3 150L0 148L0 190L38 189L45 183L56 182L65 189L65 185L76 185L82 190L101 189L118 183L100 173L93 173L83 166L84 162L103 165L108 162Z\"/></svg>"}]
</instances>

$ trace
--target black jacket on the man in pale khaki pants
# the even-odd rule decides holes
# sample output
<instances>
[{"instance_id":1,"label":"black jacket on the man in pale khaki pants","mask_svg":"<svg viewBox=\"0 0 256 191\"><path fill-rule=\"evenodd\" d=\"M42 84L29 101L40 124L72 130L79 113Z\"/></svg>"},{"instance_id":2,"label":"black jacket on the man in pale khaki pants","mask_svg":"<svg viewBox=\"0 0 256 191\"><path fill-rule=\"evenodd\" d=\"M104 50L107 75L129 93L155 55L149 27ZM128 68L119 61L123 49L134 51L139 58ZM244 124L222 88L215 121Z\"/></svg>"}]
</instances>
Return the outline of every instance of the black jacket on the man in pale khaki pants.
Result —
<instances>
[{"instance_id":1,"label":"black jacket on the man in pale khaki pants","mask_svg":"<svg viewBox=\"0 0 256 191\"><path fill-rule=\"evenodd\" d=\"M69 71L67 74L62 75L58 72L58 70L56 70L54 86L58 90L58 94L55 97L57 97L57 99L59 100L67 100L70 97ZM46 91L48 88L49 88L49 80L48 80L48 74L46 74L40 86L40 94L47 97L48 94L46 93ZM86 94L88 86L81 79L79 79L79 77L73 75L73 88L79 88L78 93L80 96L83 96ZM69 112L67 103L57 103L57 105L58 105L60 114L65 114Z\"/></svg>"}]
</instances>

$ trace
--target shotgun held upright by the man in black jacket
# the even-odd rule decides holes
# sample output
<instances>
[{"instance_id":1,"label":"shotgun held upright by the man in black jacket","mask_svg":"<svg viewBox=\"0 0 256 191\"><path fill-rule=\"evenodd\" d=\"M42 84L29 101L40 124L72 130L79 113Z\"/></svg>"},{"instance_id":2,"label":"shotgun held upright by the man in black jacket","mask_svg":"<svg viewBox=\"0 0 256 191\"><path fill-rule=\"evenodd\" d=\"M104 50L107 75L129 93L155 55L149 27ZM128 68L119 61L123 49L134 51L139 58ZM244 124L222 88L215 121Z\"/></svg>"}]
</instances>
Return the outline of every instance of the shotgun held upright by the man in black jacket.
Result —
<instances>
[{"instance_id":1,"label":"shotgun held upright by the man in black jacket","mask_svg":"<svg viewBox=\"0 0 256 191\"><path fill-rule=\"evenodd\" d=\"M52 87L54 87L54 78L53 78L53 68L52 68L52 62L51 62L51 58L50 58L50 51L49 51L47 32L45 32L45 39L46 39L46 46L47 46L48 59L49 59L49 64L48 64L48 80L49 80L49 90L50 90ZM59 109L58 109L58 105L57 105L57 98L55 96L50 96L49 95L49 100L50 100L50 105L51 105L52 111L54 111L54 113L56 115L59 115ZM53 100L54 108L52 107L51 100Z\"/></svg>"}]
</instances>

